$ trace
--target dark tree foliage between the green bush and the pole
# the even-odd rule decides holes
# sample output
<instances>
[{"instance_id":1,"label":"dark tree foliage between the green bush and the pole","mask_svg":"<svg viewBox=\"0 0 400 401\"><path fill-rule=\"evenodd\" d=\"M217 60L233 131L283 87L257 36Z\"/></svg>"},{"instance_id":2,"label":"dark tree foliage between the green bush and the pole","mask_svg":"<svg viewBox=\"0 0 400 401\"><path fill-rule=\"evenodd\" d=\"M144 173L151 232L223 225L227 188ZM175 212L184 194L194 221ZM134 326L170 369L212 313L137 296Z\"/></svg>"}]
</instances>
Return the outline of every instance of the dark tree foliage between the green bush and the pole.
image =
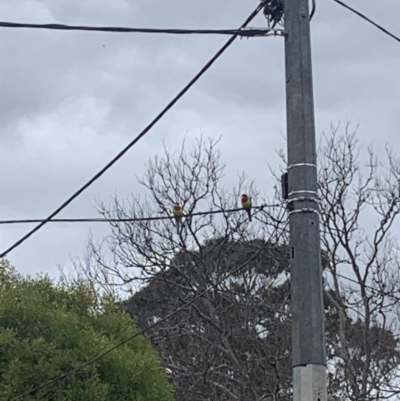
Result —
<instances>
[{"instance_id":1,"label":"dark tree foliage between the green bush and the pole","mask_svg":"<svg viewBox=\"0 0 400 401\"><path fill-rule=\"evenodd\" d=\"M207 255L201 267L192 263L195 256L182 252L173 269L154 276L125 305L146 327L191 303L151 330L177 383L177 399L188 393L195 400L286 393L291 383L287 249L260 240L215 240L201 251ZM208 286L215 287L194 300L193 288Z\"/></svg>"}]
</instances>

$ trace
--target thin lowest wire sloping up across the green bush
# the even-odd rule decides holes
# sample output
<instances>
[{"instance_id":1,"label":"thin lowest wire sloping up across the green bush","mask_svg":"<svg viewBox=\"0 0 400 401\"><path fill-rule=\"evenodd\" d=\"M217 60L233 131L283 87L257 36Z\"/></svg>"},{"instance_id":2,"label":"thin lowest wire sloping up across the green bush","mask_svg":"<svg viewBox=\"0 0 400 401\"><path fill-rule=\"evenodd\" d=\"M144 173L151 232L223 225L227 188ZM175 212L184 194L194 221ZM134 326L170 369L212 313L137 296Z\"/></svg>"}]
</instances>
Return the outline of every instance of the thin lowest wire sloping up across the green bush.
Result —
<instances>
[{"instance_id":1,"label":"thin lowest wire sloping up across the green bush","mask_svg":"<svg viewBox=\"0 0 400 401\"><path fill-rule=\"evenodd\" d=\"M29 395L35 391L41 390L44 387L47 387L49 385L55 384L57 382L60 382L64 379L66 379L67 377L73 375L74 373L84 369L86 366L91 365L92 363L98 361L99 359L103 358L105 355L111 353L112 351L116 350L117 348L125 345L126 343L128 343L129 341L133 340L134 338L143 335L144 333L146 333L147 331L153 329L154 327L156 327L157 325L164 323L165 321L169 320L171 317L175 316L176 314L178 314L179 312L183 311L184 309L186 309L187 307L189 307L190 305L192 305L195 301L197 301L199 298L201 298L202 296L204 296L207 292L211 291L212 289L218 287L220 284L222 284L225 280L227 280L229 277L235 275L236 273L238 273L241 269L243 269L244 267L246 267L251 261L253 261L259 254L261 254L261 252L269 245L269 241L267 241L250 259L248 259L245 263L241 264L240 266L238 266L236 269L233 269L230 273L228 273L226 276L224 276L222 279L220 279L219 281L217 281L215 284L212 284L211 286L207 287L205 290L203 290L202 292L200 292L198 295L196 295L191 301L187 302L186 304L182 305L180 308L176 309L175 311L171 312L170 314L168 314L167 316L164 316L162 319L158 320L157 322L147 326L145 329L140 330L139 332L129 336L128 338L126 338L125 340L120 341L119 343L115 344L114 346L112 346L111 348L105 349L103 348L102 351L98 352L96 355L94 355L93 357L89 358L86 362L82 363L81 365L77 366L76 368L70 370L67 373L63 373L53 379L47 380L46 382L40 384L39 386L27 390L24 393L16 396L15 398L13 398L11 401L17 401L20 400L21 398L25 397L26 395ZM125 332L129 327L131 327L131 324L126 326L124 329L122 329L119 333L119 335L121 335L123 332Z\"/></svg>"}]
</instances>

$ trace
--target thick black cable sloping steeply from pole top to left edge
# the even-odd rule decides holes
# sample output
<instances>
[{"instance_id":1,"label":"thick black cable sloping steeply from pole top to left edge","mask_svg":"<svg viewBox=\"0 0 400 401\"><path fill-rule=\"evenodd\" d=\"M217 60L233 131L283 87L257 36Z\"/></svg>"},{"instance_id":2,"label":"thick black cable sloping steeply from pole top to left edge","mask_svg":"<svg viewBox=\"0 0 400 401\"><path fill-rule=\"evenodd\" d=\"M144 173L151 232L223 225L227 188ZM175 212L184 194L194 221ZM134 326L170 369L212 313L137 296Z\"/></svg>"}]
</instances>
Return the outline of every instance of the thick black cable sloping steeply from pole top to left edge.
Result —
<instances>
[{"instance_id":1,"label":"thick black cable sloping steeply from pole top to left edge","mask_svg":"<svg viewBox=\"0 0 400 401\"><path fill-rule=\"evenodd\" d=\"M246 21L242 24L241 28L245 28L262 10L265 1L262 1L257 8L250 14ZM95 174L86 184L78 189L70 198L68 198L60 207L58 207L53 213L51 213L46 219L44 219L39 225L29 231L21 239L6 249L0 258L4 258L12 250L24 243L30 238L35 232L40 230L45 224L47 224L53 217L57 216L62 210L64 210L72 201L74 201L79 195L81 195L87 188L89 188L95 181L97 181L109 168L111 168L125 153L128 152L141 138L143 138L159 120L178 102L178 100L185 95L185 93L204 75L205 72L214 64L214 62L225 52L225 50L238 38L238 34L233 35L211 58L210 61L195 75L195 77L167 104L167 106L153 119L153 121L143 129L143 131L137 135L123 150L121 150L110 162L106 164L97 174Z\"/></svg>"}]
</instances>

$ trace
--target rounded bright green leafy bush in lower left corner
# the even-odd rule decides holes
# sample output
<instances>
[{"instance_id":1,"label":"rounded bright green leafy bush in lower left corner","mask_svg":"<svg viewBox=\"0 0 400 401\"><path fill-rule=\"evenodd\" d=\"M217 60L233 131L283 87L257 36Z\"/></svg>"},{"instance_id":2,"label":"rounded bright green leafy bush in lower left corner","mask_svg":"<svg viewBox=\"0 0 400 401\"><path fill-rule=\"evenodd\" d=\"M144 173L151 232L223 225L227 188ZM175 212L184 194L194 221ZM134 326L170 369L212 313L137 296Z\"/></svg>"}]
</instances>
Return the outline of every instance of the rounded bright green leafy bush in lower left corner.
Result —
<instances>
[{"instance_id":1,"label":"rounded bright green leafy bush in lower left corner","mask_svg":"<svg viewBox=\"0 0 400 401\"><path fill-rule=\"evenodd\" d=\"M136 332L129 316L107 300L98 301L83 282L55 285L46 277L24 278L3 262L0 399L11 400L69 372ZM138 336L24 399L170 401L172 394L150 342Z\"/></svg>"}]
</instances>

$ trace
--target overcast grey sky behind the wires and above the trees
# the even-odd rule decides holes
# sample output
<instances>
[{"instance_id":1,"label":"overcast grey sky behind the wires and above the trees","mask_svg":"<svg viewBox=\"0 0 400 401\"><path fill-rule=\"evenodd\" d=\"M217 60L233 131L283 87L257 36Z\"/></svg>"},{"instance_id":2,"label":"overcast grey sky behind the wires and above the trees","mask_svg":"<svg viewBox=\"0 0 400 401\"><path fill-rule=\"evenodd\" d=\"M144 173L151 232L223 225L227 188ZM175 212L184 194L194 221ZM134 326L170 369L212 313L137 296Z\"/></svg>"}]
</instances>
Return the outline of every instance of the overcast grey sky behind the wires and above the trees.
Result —
<instances>
[{"instance_id":1,"label":"overcast grey sky behind the wires and above the trees","mask_svg":"<svg viewBox=\"0 0 400 401\"><path fill-rule=\"evenodd\" d=\"M318 1L312 21L317 134L331 121L360 124L368 145L400 145L400 44L340 7ZM398 0L348 0L400 35ZM0 20L153 28L237 28L244 0L2 0ZM252 26L264 26L260 17ZM219 46L221 36L159 36L0 29L0 216L42 218L91 178L165 106ZM238 40L137 146L60 217L96 216L96 199L127 197L162 140L222 135L227 179L244 170L266 187L284 148L283 39ZM265 181L260 175L265 173ZM3 226L4 250L31 226ZM81 256L99 224L49 224L10 261L57 274Z\"/></svg>"}]
</instances>

